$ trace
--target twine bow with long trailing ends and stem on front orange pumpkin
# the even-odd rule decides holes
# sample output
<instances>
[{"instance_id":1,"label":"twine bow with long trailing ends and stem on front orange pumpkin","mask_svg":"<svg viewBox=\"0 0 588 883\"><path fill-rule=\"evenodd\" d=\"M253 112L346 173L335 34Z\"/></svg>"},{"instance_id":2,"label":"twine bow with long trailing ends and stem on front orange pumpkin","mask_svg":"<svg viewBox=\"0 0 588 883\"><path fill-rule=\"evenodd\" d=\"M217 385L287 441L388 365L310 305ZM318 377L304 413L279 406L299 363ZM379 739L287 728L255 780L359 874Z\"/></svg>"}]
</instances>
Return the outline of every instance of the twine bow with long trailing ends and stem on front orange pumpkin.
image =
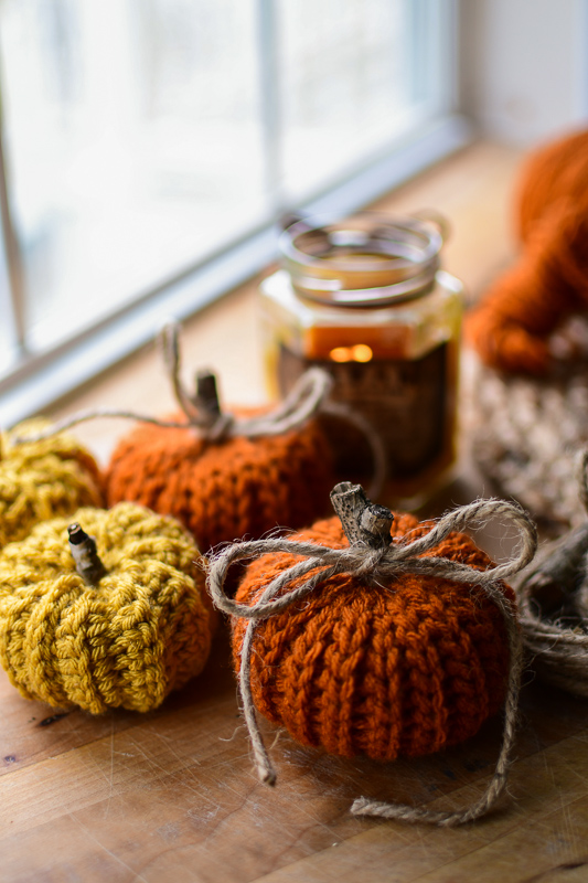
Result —
<instances>
[{"instance_id":1,"label":"twine bow with long trailing ends and stem on front orange pumpkin","mask_svg":"<svg viewBox=\"0 0 588 883\"><path fill-rule=\"evenodd\" d=\"M328 549L310 542L288 539L269 539L235 543L221 552L211 563L209 587L215 605L231 616L248 619L242 647L238 685L245 722L252 741L257 774L261 781L275 785L276 772L266 751L257 724L250 688L253 639L256 623L280 614L301 602L330 577L346 573L364 583L376 584L403 574L419 574L452 579L479 586L500 609L506 626L510 668L505 700L505 724L502 746L494 775L484 794L471 807L456 812L436 812L399 804L386 804L360 798L351 811L359 816L381 816L405 821L427 821L440 826L461 825L484 815L502 794L510 766L510 751L514 738L518 704L522 643L516 611L499 587L499 582L513 576L533 558L537 546L537 532L526 512L518 506L501 500L479 500L449 512L429 533L410 542L393 542L391 538L392 512L370 502L363 488L350 482L338 485L331 492L333 507L341 518L350 541L348 549ZM452 531L462 531L490 518L506 517L521 533L515 556L503 564L478 571L467 564L445 557L421 557L435 549ZM250 606L227 597L224 583L234 562L257 557L268 552L287 552L302 555L301 561L284 571L264 589ZM302 577L307 577L300 583Z\"/></svg>"}]
</instances>

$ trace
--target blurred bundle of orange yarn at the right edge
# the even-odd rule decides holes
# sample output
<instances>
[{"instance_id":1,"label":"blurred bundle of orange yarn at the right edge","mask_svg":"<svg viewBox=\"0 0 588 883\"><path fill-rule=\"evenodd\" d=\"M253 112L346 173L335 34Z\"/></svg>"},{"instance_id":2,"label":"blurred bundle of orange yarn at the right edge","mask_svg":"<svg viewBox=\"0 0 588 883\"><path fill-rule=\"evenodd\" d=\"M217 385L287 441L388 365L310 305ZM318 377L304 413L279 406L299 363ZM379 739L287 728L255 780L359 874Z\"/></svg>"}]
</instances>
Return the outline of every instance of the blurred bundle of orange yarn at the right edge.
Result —
<instances>
[{"instance_id":1,"label":"blurred bundle of orange yarn at the right edge","mask_svg":"<svg viewBox=\"0 0 588 883\"><path fill-rule=\"evenodd\" d=\"M587 182L588 131L530 156L515 199L522 256L466 320L485 364L546 374L549 334L565 317L588 309Z\"/></svg>"}]
</instances>

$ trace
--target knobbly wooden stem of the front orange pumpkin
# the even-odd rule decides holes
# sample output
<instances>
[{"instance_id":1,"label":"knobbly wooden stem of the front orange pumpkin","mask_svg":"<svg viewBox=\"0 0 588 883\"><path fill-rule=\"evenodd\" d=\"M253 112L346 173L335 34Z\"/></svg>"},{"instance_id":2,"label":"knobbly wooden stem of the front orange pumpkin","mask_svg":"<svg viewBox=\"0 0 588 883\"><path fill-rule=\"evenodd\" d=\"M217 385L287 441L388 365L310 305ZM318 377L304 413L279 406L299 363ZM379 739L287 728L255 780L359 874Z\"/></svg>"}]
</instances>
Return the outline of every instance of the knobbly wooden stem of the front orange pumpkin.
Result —
<instances>
[{"instance_id":1,"label":"knobbly wooden stem of the front orange pumpkin","mask_svg":"<svg viewBox=\"0 0 588 883\"><path fill-rule=\"evenodd\" d=\"M350 545L384 549L391 544L394 515L385 506L373 503L361 485L341 481L331 491L331 502Z\"/></svg>"}]
</instances>

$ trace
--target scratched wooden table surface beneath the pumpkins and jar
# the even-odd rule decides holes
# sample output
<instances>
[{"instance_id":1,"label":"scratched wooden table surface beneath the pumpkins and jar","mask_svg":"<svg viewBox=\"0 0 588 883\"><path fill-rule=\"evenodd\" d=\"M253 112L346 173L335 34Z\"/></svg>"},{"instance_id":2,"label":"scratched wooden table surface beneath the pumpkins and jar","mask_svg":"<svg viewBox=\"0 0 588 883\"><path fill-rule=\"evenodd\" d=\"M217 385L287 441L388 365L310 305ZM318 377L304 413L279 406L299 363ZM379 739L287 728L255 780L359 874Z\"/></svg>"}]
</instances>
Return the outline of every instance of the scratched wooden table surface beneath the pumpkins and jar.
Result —
<instances>
[{"instance_id":1,"label":"scratched wooden table surface beneath the pumpkins and jar","mask_svg":"<svg viewBox=\"0 0 588 883\"><path fill-rule=\"evenodd\" d=\"M505 217L518 159L474 146L378 208L443 211L456 227L446 266L475 294L512 255ZM254 288L186 328L186 372L212 364L229 401L264 395ZM98 403L169 409L153 351L54 414ZM124 429L86 425L78 435L105 458ZM462 456L443 506L479 490ZM500 716L442 755L386 765L307 749L264 725L278 769L270 789L253 770L226 626L204 672L150 714L56 712L22 699L3 673L0 714L0 881L588 881L588 703L543 687L531 672L509 795L488 818L450 830L354 818L349 808L360 795L469 805L492 773Z\"/></svg>"}]
</instances>

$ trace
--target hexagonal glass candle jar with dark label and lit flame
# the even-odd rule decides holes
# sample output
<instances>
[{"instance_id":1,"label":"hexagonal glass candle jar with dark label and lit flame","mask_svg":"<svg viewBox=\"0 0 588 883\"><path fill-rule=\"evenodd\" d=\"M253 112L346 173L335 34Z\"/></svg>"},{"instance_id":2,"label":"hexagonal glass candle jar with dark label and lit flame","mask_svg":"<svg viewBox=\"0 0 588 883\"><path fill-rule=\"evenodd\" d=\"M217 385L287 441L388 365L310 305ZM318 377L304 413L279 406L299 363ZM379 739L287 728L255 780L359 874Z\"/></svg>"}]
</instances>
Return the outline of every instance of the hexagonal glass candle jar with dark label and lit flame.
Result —
<instances>
[{"instance_id":1,"label":"hexagonal glass candle jar with dark label and lit flame","mask_svg":"<svg viewBox=\"0 0 588 883\"><path fill-rule=\"evenodd\" d=\"M272 392L311 365L329 371L333 397L384 442L389 500L426 494L456 456L462 285L439 269L442 242L437 219L299 221L280 237L282 269L261 284ZM367 476L365 443L330 429L344 477Z\"/></svg>"}]
</instances>

